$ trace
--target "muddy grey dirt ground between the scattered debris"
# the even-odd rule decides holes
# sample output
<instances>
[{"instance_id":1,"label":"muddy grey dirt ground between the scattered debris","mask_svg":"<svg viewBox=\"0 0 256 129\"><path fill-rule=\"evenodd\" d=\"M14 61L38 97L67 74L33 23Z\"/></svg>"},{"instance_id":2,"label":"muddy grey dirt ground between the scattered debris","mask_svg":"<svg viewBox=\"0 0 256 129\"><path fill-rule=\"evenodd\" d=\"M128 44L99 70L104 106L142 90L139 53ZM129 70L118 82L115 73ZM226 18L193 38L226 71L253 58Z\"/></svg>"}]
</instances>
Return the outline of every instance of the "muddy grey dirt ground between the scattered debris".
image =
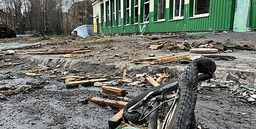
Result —
<instances>
[{"instance_id":1,"label":"muddy grey dirt ground between the scattered debris","mask_svg":"<svg viewBox=\"0 0 256 129\"><path fill-rule=\"evenodd\" d=\"M235 50L232 53L220 52L216 55L233 55L236 60L215 61L219 71L243 71L243 75L215 75L210 83L217 81L232 82L232 86L255 84L256 71L256 32L244 33L202 33L188 34L180 37L160 38L164 40L188 43L192 47L205 43L247 44L253 50ZM148 73L151 75L168 72L173 78L179 77L187 65L170 63L168 65L135 65L137 58L190 54L189 49L178 49L166 44L162 49L149 50L150 44L157 40L141 37L20 37L2 39L1 43L37 43L41 46L28 47L15 51L52 50L65 48L90 47L92 52L77 54L76 58L64 58L57 55L0 55L0 86L26 89L0 99L0 128L108 128L108 119L118 113L118 109L99 106L95 103L79 103L79 99L100 96L115 100L122 97L101 93L101 88L79 86L66 88L65 78L71 75L94 75L118 80L123 69L131 75ZM185 42L184 42L185 41ZM192 56L198 54L191 54ZM21 63L20 65L4 65ZM36 69L47 69L37 72L37 76L26 75ZM219 72L222 73L222 72ZM247 74L248 73L248 74ZM252 74L252 75L251 75ZM133 98L149 86L136 87L121 83L119 88L129 92L127 97ZM6 91L2 91L6 92ZM229 88L201 88L196 103L196 120L204 128L255 128L255 104L248 103L230 93Z\"/></svg>"}]
</instances>

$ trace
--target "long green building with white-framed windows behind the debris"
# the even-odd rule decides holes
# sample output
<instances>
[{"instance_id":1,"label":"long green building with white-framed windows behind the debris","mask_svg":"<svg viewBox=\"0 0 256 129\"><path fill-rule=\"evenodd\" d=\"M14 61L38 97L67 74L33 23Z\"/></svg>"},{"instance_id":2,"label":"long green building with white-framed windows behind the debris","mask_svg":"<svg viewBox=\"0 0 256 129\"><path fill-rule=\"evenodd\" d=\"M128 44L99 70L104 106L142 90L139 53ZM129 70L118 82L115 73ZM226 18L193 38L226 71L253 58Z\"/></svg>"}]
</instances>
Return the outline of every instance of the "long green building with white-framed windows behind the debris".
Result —
<instances>
[{"instance_id":1,"label":"long green building with white-framed windows behind the debris","mask_svg":"<svg viewBox=\"0 0 256 129\"><path fill-rule=\"evenodd\" d=\"M94 32L191 32L256 28L256 0L96 0Z\"/></svg>"}]
</instances>

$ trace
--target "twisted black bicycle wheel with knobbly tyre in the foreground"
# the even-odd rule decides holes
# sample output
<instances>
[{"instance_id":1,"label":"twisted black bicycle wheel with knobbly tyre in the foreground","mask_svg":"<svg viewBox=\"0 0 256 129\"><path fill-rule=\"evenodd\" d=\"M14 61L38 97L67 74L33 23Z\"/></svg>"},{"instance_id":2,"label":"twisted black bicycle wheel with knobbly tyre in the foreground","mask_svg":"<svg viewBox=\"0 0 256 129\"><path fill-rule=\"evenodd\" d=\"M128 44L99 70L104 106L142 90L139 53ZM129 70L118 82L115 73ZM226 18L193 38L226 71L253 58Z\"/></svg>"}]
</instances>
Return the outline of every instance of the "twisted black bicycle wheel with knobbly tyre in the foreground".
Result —
<instances>
[{"instance_id":1,"label":"twisted black bicycle wheel with knobbly tyre in the foreground","mask_svg":"<svg viewBox=\"0 0 256 129\"><path fill-rule=\"evenodd\" d=\"M195 94L193 94L193 92L191 91L191 88L194 88L194 86L196 86L196 83L198 80L203 81L208 78L212 78L212 74L213 72L215 72L215 70L216 70L216 65L212 60L208 60L206 58L198 58L192 61L187 68L187 72L185 72L180 76L180 79L179 79L180 97L179 97L179 100L177 100L176 108L180 107L183 110L185 110L185 108L183 108L184 105L187 105L186 103L192 103L192 106L191 105L185 106L186 108L189 108L185 110L185 112L193 110L194 105L196 103L196 99L194 99ZM204 73L204 74L198 75L198 73ZM130 122L133 122L134 124L140 124L140 125L144 124L147 120L146 119L139 120L141 117L141 113L139 113L138 111L129 112L129 110L131 108L132 109L139 108L140 106L143 105L143 103L146 103L148 100L152 99L153 97L162 94L164 91L174 91L175 89L178 88L177 81L178 80L173 80L172 82L169 82L167 84L149 89L149 91L146 91L143 94L140 94L139 96L135 97L133 100L127 103L126 107L124 108L124 117L126 117L127 120L129 120ZM184 111L182 111L182 113L183 112ZM185 114L193 114L193 112L190 111ZM178 114L177 116L180 116L180 114ZM188 120L187 123L191 124L191 121ZM182 124L182 125L189 126L190 124L185 124L185 125Z\"/></svg>"}]
</instances>

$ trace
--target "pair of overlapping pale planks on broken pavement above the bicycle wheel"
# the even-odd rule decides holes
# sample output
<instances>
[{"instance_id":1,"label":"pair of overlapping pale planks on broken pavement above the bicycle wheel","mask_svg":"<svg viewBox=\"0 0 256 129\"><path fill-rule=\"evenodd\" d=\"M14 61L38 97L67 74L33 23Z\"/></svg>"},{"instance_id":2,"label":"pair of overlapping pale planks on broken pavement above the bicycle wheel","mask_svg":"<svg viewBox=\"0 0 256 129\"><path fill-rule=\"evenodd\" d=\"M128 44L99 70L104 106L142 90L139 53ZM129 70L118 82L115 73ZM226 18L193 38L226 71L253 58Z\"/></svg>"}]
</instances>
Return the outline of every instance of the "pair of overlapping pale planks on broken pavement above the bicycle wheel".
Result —
<instances>
[{"instance_id":1,"label":"pair of overlapping pale planks on broken pavement above the bicycle wheel","mask_svg":"<svg viewBox=\"0 0 256 129\"><path fill-rule=\"evenodd\" d=\"M140 58L138 60L133 60L133 63L136 64L151 64L151 65L163 65L166 63L171 63L173 61L179 61L179 60L189 60L190 55L184 54L184 55L166 55L161 57L151 57L151 58Z\"/></svg>"}]
</instances>

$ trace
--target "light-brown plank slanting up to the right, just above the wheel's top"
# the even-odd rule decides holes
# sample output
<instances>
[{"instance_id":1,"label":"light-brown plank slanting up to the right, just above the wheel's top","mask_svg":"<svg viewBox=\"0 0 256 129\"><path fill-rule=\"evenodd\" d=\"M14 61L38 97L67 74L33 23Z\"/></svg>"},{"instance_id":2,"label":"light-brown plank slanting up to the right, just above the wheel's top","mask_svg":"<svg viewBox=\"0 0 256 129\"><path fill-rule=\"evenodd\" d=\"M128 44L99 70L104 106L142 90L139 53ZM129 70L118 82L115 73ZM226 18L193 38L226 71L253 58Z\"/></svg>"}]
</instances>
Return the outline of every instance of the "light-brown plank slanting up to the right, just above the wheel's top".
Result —
<instances>
[{"instance_id":1,"label":"light-brown plank slanting up to the right, just above the wheel's top","mask_svg":"<svg viewBox=\"0 0 256 129\"><path fill-rule=\"evenodd\" d=\"M169 58L164 58L164 59L161 59L161 60L155 60L155 61L152 61L152 65L154 64L166 64L166 63L171 63L172 61L177 61L177 60L183 60L184 58L190 56L189 54L185 54L185 55L176 55L174 57L169 57Z\"/></svg>"}]
</instances>

